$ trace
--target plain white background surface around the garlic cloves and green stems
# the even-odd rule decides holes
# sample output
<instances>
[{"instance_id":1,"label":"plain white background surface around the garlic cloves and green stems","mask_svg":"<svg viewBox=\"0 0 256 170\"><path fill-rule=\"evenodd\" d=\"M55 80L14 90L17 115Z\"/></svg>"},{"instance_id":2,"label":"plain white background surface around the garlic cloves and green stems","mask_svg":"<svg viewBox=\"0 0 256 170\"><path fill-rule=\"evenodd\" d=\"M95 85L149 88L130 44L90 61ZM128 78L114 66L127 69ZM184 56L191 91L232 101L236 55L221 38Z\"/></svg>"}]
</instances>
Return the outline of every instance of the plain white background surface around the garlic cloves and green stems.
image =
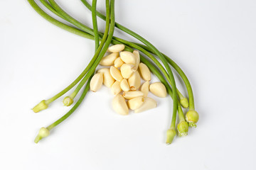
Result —
<instances>
[{"instance_id":1,"label":"plain white background surface around the garlic cloves and green stems","mask_svg":"<svg viewBox=\"0 0 256 170\"><path fill-rule=\"evenodd\" d=\"M79 0L57 2L92 25ZM98 4L104 11L105 1ZM0 169L256 169L255 8L255 0L116 1L116 21L186 72L198 128L166 146L171 98L154 97L157 108L120 116L104 87L88 93L80 108L36 145L39 128L70 108L63 97L41 113L31 108L82 72L94 42L48 23L26 0L1 0ZM130 39L119 30L115 34Z\"/></svg>"}]
</instances>

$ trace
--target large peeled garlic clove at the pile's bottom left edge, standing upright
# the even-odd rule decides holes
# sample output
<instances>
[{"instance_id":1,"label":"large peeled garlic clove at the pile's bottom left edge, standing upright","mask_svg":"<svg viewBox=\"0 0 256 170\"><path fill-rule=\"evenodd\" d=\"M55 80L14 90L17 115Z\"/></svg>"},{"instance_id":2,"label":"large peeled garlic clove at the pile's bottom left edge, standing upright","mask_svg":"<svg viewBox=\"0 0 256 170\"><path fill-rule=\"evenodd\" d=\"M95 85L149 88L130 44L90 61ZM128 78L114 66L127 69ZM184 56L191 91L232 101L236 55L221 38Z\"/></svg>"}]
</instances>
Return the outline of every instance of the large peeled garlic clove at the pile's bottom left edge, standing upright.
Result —
<instances>
[{"instance_id":1,"label":"large peeled garlic clove at the pile's bottom left edge, standing upright","mask_svg":"<svg viewBox=\"0 0 256 170\"><path fill-rule=\"evenodd\" d=\"M125 102L124 97L121 94L117 94L112 100L112 108L120 115L128 115L129 108Z\"/></svg>"}]
</instances>

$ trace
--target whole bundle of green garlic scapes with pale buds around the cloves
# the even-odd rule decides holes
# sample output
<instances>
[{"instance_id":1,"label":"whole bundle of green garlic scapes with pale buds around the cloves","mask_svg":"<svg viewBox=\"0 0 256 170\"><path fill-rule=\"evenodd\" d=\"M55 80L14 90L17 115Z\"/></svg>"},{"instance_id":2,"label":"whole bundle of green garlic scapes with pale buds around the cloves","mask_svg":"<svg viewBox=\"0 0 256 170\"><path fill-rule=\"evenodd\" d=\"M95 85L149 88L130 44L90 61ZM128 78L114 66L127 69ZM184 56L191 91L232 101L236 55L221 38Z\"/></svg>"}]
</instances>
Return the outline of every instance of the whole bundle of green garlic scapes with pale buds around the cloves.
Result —
<instances>
[{"instance_id":1,"label":"whole bundle of green garlic scapes with pale buds around the cloves","mask_svg":"<svg viewBox=\"0 0 256 170\"><path fill-rule=\"evenodd\" d=\"M75 109L78 108L78 106L80 106L80 103L82 103L83 99L85 98L87 91L89 91L90 89L90 79L95 74L95 69L97 68L98 64L100 63L100 60L102 60L102 57L105 55L108 47L111 44L123 44L125 45L124 50L129 52L139 50L140 60L144 64L146 64L146 66L149 67L150 71L154 75L156 75L156 77L158 77L158 79L164 84L164 86L166 86L166 90L169 96L171 96L171 98L173 99L171 125L166 132L166 144L171 144L171 142L174 140L174 137L176 136L176 130L178 131L178 136L180 137L188 135L188 127L196 127L199 115L195 111L191 84L188 81L186 74L182 71L178 64L176 64L174 60L171 60L171 58L159 52L159 50L157 50L156 47L154 47L154 45L152 45L145 38L142 38L142 36L138 35L137 33L134 33L132 30L129 30L128 28L115 22L114 0L105 0L106 15L96 10L97 0L92 0L92 6L86 0L80 1L82 1L82 4L84 4L90 11L92 11L93 29L85 26L83 23L80 23L78 20L70 16L62 8L60 8L60 6L54 0L40 0L40 2L41 4L43 4L43 6L46 6L46 8L48 8L48 10L51 13L55 14L55 16L64 19L65 21L68 21L68 23L70 23L72 26L68 26L67 24L62 23L61 21L58 21L57 19L49 16L48 13L43 11L43 9L38 6L36 1L28 0L29 4L31 4L33 9L38 14L40 14L50 23L53 23L55 26L63 28L64 30L68 30L70 33L80 35L84 38L95 40L95 55L92 57L92 60L89 62L87 67L85 67L85 69L78 76L78 78L76 78L69 86L63 89L63 91L60 91L58 94L49 98L48 100L41 101L40 103L38 103L38 105L36 105L33 108L33 111L35 113L48 108L48 105L50 103L55 101L57 98L60 98L60 96L66 94L68 91L70 91L70 89L72 89L75 85L78 84L75 90L69 96L66 96L63 100L65 106L70 106L73 103L74 98L77 96L78 92L84 86L84 90L78 101L73 106L73 108L71 108L70 111L68 111L68 113L63 115L63 117L56 120L47 128L41 128L35 139L35 142L37 143L39 140L43 139L43 137L47 137L50 134L50 130L55 128L55 126L57 126L58 124L62 123L63 120L68 118L75 111ZM97 17L105 21L104 33L100 33L98 31ZM118 28L119 30L122 30L124 33L127 33L128 35L132 35L132 37L136 38L143 44L130 42L122 38L115 37L114 28ZM161 62L159 62L159 60L157 60L156 57L158 57L161 60ZM184 97L181 94L181 92L178 91L178 89L176 88L176 82L171 67L176 70L178 76L181 77L183 83L186 85L188 99ZM183 108L188 108L188 112L186 113L185 116L183 114L181 106ZM177 112L179 120L178 125L176 125Z\"/></svg>"}]
</instances>

